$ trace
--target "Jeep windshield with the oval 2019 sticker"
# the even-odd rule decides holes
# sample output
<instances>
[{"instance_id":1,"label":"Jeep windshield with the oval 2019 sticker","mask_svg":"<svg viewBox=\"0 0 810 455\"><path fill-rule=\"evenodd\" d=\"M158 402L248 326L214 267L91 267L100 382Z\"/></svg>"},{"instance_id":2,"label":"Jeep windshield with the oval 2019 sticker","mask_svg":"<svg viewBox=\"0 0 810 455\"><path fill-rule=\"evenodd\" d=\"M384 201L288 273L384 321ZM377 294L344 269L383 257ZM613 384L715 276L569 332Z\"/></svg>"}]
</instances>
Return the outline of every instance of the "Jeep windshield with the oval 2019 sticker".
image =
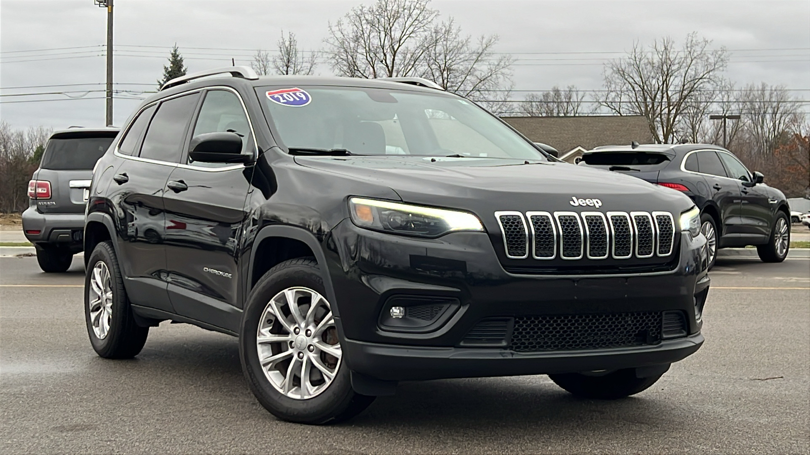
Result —
<instances>
[{"instance_id":1,"label":"Jeep windshield with the oval 2019 sticker","mask_svg":"<svg viewBox=\"0 0 810 455\"><path fill-rule=\"evenodd\" d=\"M283 145L356 155L545 159L458 96L368 87L258 87Z\"/></svg>"}]
</instances>

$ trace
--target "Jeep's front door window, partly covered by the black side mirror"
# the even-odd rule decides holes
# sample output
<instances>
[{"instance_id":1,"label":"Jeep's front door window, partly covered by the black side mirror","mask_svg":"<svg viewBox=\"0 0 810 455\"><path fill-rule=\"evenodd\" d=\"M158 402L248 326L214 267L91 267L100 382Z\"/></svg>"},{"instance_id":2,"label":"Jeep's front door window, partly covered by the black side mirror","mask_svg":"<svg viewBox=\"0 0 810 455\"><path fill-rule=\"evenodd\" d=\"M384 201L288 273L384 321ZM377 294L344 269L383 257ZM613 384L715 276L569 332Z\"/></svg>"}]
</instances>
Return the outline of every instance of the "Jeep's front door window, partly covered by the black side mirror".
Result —
<instances>
[{"instance_id":1,"label":"Jeep's front door window, partly covered by the black side mirror","mask_svg":"<svg viewBox=\"0 0 810 455\"><path fill-rule=\"evenodd\" d=\"M250 125L245 109L242 108L241 101L231 91L212 90L208 91L203 100L203 107L194 125L194 134L218 133L231 131L242 137L242 151L246 151L250 141ZM201 163L189 158L189 164L205 168L218 168L230 166L228 163Z\"/></svg>"}]
</instances>

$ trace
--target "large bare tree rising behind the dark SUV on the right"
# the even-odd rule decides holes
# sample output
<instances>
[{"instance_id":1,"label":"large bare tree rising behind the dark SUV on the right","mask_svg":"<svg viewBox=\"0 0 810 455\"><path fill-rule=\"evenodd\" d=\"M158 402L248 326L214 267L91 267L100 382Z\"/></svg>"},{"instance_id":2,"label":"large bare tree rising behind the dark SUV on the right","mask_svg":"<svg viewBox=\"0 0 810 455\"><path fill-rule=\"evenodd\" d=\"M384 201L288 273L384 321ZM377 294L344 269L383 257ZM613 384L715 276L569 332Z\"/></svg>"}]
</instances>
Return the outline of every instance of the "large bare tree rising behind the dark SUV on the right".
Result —
<instances>
[{"instance_id":1,"label":"large bare tree rising behind the dark SUV on the right","mask_svg":"<svg viewBox=\"0 0 810 455\"><path fill-rule=\"evenodd\" d=\"M669 37L649 48L636 43L625 57L605 64L599 105L618 115L643 115L655 142L676 140L689 104L697 102L700 91L713 89L727 66L726 49L712 50L710 44L696 32L680 49Z\"/></svg>"}]
</instances>

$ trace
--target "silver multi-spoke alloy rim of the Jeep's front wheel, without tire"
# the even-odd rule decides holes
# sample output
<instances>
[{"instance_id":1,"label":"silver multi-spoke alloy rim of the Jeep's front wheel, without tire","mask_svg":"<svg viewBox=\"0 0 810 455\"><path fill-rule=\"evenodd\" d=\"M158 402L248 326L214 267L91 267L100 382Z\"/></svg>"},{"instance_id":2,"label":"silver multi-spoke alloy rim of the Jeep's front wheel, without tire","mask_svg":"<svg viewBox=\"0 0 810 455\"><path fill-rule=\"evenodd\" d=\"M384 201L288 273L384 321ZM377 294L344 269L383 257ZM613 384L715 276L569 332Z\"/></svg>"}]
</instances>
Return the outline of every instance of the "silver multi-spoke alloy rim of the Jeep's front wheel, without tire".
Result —
<instances>
[{"instance_id":1,"label":"silver multi-spoke alloy rim of the Jeep's front wheel, without tire","mask_svg":"<svg viewBox=\"0 0 810 455\"><path fill-rule=\"evenodd\" d=\"M256 334L262 372L284 396L318 396L335 378L340 344L329 302L309 287L288 287L262 313Z\"/></svg>"}]
</instances>

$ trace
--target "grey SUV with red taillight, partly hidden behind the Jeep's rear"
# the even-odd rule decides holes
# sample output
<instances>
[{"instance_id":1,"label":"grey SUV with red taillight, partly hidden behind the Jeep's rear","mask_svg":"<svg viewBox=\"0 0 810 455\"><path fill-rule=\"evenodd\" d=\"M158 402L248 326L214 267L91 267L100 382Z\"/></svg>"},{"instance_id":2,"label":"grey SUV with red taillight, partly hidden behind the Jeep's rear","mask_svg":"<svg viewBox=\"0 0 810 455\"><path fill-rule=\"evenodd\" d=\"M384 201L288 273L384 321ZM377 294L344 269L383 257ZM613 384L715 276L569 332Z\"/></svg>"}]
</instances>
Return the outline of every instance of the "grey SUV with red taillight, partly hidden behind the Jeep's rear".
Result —
<instances>
[{"instance_id":1,"label":"grey SUV with red taillight, partly hidden behind the Jeep's rear","mask_svg":"<svg viewBox=\"0 0 810 455\"><path fill-rule=\"evenodd\" d=\"M64 272L83 249L84 206L92 169L117 128L74 128L51 134L40 167L28 182L23 232L45 272Z\"/></svg>"}]
</instances>

